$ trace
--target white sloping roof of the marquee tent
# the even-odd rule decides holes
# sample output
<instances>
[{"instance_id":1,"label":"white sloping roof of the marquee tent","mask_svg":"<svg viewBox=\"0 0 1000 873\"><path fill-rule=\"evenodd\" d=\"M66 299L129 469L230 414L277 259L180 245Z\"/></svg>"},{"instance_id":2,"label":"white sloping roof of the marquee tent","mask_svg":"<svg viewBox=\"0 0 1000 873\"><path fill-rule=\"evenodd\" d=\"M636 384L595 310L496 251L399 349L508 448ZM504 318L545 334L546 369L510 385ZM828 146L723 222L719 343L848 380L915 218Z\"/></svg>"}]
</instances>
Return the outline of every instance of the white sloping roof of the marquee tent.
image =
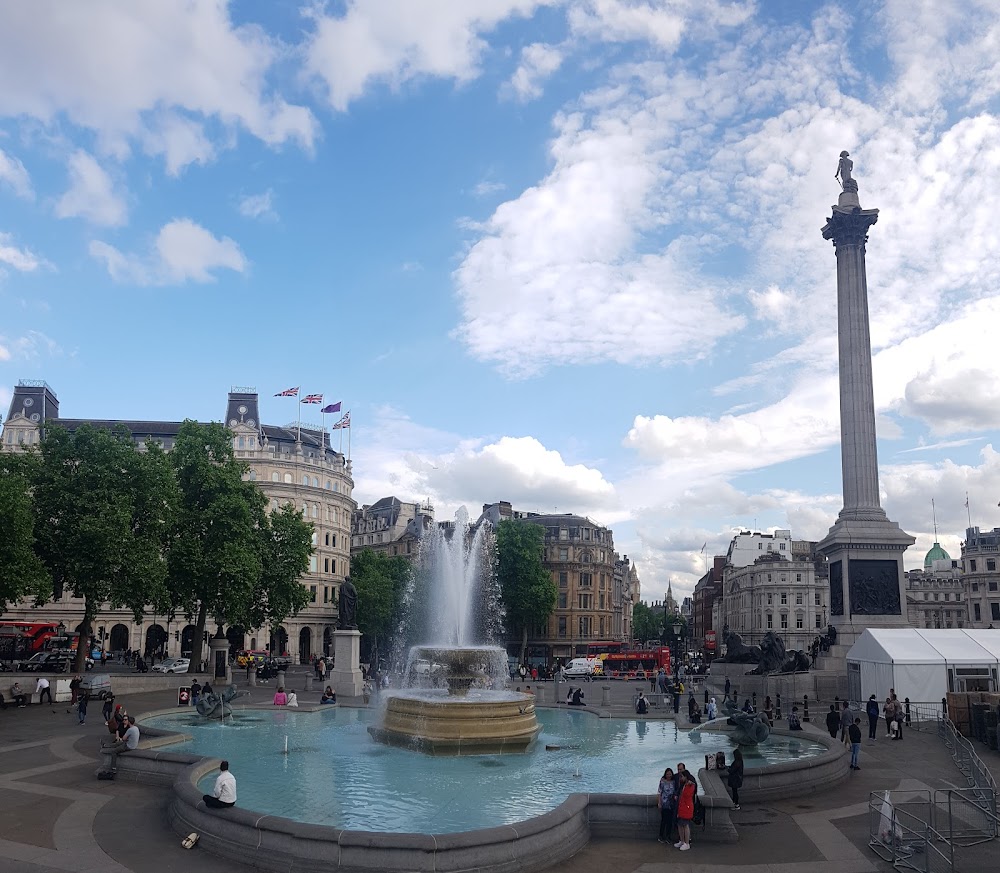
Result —
<instances>
[{"instance_id":1,"label":"white sloping roof of the marquee tent","mask_svg":"<svg viewBox=\"0 0 1000 873\"><path fill-rule=\"evenodd\" d=\"M883 664L996 664L1000 661L1000 631L869 628L847 657Z\"/></svg>"}]
</instances>

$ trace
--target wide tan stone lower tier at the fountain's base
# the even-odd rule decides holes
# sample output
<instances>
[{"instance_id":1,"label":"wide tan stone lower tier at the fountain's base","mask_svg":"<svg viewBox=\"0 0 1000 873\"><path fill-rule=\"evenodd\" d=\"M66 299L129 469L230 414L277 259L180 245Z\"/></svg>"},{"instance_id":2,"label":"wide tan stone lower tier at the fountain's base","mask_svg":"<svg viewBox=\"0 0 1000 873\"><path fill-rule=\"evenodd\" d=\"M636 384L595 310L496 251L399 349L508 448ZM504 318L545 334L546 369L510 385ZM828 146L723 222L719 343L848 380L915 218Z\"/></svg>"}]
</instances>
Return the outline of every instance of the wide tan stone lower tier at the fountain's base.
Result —
<instances>
[{"instance_id":1,"label":"wide tan stone lower tier at the fountain's base","mask_svg":"<svg viewBox=\"0 0 1000 873\"><path fill-rule=\"evenodd\" d=\"M394 694L381 723L368 728L380 743L430 755L523 752L538 736L530 694L474 691L454 697L421 692Z\"/></svg>"}]
</instances>

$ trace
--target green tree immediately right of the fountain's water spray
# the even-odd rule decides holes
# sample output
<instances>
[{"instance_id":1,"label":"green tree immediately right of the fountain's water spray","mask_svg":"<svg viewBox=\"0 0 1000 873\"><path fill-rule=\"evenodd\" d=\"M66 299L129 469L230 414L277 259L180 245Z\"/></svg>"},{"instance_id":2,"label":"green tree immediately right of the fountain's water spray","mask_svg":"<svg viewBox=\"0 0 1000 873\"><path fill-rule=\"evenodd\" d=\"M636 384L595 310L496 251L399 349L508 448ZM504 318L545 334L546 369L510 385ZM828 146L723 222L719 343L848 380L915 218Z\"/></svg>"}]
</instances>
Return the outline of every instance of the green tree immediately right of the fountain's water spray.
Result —
<instances>
[{"instance_id":1,"label":"green tree immediately right of the fountain's water spray","mask_svg":"<svg viewBox=\"0 0 1000 873\"><path fill-rule=\"evenodd\" d=\"M507 611L508 630L521 634L521 663L528 648L528 631L548 621L558 590L545 569L542 555L545 529L518 519L497 527L497 578Z\"/></svg>"}]
</instances>

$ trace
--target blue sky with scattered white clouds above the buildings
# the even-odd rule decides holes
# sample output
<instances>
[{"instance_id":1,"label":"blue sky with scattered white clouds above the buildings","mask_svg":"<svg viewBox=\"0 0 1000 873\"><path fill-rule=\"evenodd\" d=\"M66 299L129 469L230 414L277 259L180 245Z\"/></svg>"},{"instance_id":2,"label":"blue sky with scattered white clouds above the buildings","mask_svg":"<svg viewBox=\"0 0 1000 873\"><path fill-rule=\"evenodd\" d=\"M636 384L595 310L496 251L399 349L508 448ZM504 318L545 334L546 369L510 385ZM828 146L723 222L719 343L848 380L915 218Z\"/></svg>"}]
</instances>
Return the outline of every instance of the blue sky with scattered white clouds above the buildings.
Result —
<instances>
[{"instance_id":1,"label":"blue sky with scattered white clouds above the buildings","mask_svg":"<svg viewBox=\"0 0 1000 873\"><path fill-rule=\"evenodd\" d=\"M3 4L0 414L300 386L359 503L587 515L689 593L842 505L847 149L883 505L956 556L1000 525L998 44L994 0Z\"/></svg>"}]
</instances>

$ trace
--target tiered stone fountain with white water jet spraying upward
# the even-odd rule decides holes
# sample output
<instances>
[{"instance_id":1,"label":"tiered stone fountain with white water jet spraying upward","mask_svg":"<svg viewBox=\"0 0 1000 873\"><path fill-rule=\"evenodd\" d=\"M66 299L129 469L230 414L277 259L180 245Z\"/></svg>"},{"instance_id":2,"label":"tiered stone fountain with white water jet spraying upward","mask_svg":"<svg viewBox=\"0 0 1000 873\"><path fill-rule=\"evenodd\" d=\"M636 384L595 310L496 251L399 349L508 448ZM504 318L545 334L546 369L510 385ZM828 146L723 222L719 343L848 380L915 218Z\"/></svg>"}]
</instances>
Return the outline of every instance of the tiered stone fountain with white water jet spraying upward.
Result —
<instances>
[{"instance_id":1,"label":"tiered stone fountain with white water jet spraying upward","mask_svg":"<svg viewBox=\"0 0 1000 873\"><path fill-rule=\"evenodd\" d=\"M410 648L402 687L390 693L377 741L432 755L523 752L541 728L534 697L511 691L507 653L483 644L498 608L492 531L470 531L464 509L451 535L437 529L421 546L428 616L417 633L434 643ZM478 638L478 639L477 639Z\"/></svg>"}]
</instances>

